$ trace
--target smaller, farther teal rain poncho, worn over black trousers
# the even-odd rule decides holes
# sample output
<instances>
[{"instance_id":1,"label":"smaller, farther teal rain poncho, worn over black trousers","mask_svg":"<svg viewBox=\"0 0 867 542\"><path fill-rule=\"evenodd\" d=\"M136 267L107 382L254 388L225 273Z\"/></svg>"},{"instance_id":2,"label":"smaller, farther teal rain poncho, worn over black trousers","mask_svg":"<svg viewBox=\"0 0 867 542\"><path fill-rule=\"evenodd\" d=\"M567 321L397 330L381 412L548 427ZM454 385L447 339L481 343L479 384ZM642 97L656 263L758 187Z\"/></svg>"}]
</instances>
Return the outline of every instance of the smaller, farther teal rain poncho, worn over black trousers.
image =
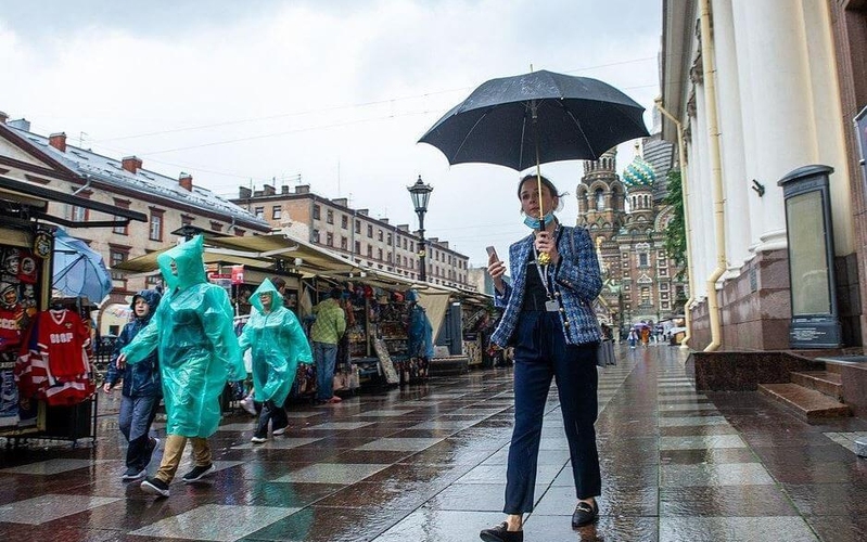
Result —
<instances>
[{"instance_id":1,"label":"smaller, farther teal rain poncho, worn over black trousers","mask_svg":"<svg viewBox=\"0 0 867 542\"><path fill-rule=\"evenodd\" d=\"M271 294L266 313L262 294ZM241 351L251 348L253 358L253 388L257 401L273 401L282 406L289 397L298 363L313 363L313 352L307 336L291 310L283 307L283 298L268 279L250 296L256 308L250 314L239 340Z\"/></svg>"}]
</instances>

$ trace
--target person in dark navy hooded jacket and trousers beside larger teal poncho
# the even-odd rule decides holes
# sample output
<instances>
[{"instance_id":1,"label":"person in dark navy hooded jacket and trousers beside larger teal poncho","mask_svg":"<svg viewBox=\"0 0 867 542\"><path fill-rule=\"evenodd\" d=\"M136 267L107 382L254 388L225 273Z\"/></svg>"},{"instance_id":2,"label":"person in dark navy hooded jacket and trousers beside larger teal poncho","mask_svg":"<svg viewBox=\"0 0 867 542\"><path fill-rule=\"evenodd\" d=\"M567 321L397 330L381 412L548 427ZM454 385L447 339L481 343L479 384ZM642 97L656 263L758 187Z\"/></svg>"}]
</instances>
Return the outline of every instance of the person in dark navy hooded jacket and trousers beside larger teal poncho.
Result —
<instances>
[{"instance_id":1,"label":"person in dark navy hooded jacket and trousers beside larger teal poncho","mask_svg":"<svg viewBox=\"0 0 867 542\"><path fill-rule=\"evenodd\" d=\"M160 399L163 397L160 380L160 362L154 351L142 363L126 364L117 369L117 356L120 349L128 345L132 338L151 321L151 317L160 304L160 294L152 289L143 289L132 297L132 313L135 320L124 326L120 336L114 345L112 361L105 376L103 389L111 393L123 379L120 391L120 415L118 426L124 434L129 447L127 448L127 469L120 477L122 480L137 480L146 474L148 464L160 441L150 436L151 424L156 416Z\"/></svg>"}]
</instances>

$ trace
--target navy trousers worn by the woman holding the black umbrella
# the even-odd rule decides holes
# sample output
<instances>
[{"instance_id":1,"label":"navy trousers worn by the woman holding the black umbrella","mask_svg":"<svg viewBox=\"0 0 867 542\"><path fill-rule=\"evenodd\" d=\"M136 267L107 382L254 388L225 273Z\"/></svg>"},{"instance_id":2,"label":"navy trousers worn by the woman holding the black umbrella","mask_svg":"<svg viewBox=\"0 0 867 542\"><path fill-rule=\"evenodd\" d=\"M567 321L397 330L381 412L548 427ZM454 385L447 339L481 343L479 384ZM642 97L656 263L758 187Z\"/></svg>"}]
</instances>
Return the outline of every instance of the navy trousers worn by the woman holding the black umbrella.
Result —
<instances>
[{"instance_id":1,"label":"navy trousers worn by the woman holding the black umbrella","mask_svg":"<svg viewBox=\"0 0 867 542\"><path fill-rule=\"evenodd\" d=\"M506 514L533 512L541 422L551 378L563 414L578 499L602 492L596 449L596 343L566 345L556 312L523 312L515 328L514 430L506 475Z\"/></svg>"}]
</instances>

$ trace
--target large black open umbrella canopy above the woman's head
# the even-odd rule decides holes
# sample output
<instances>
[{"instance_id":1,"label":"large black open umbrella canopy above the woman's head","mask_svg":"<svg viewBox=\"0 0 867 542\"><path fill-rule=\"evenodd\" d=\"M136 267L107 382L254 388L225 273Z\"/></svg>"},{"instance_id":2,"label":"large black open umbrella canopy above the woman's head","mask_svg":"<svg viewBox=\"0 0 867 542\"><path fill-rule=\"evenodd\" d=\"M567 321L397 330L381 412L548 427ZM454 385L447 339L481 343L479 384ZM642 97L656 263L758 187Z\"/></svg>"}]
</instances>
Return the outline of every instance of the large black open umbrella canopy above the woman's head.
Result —
<instances>
[{"instance_id":1,"label":"large black open umbrella canopy above the woman's head","mask_svg":"<svg viewBox=\"0 0 867 542\"><path fill-rule=\"evenodd\" d=\"M598 159L648 136L645 108L587 77L532 72L492 79L445 114L419 140L449 164L481 162L519 171L557 160Z\"/></svg>"}]
</instances>

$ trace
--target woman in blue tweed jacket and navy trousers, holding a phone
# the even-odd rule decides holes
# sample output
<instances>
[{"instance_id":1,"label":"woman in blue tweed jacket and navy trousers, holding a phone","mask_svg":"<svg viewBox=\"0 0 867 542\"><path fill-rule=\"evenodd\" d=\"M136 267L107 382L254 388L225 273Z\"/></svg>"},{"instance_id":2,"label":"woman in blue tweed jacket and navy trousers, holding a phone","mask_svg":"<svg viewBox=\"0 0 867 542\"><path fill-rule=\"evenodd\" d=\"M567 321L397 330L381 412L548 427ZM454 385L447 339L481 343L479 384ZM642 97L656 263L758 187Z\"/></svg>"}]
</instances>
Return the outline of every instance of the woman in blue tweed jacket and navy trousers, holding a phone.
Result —
<instances>
[{"instance_id":1,"label":"woman in blue tweed jacket and navy trousers, holding a phone","mask_svg":"<svg viewBox=\"0 0 867 542\"><path fill-rule=\"evenodd\" d=\"M538 185L541 184L539 191ZM505 264L488 261L494 302L503 309L492 343L514 347L514 429L509 447L506 521L481 532L486 542L523 541L523 515L533 511L541 422L551 379L557 380L569 440L577 505L572 526L592 522L601 493L596 449L599 326L591 302L602 289L599 263L586 230L560 224L551 212L560 194L540 175L518 186L524 223L532 235L509 248L512 284ZM548 263L545 261L548 260Z\"/></svg>"}]
</instances>

